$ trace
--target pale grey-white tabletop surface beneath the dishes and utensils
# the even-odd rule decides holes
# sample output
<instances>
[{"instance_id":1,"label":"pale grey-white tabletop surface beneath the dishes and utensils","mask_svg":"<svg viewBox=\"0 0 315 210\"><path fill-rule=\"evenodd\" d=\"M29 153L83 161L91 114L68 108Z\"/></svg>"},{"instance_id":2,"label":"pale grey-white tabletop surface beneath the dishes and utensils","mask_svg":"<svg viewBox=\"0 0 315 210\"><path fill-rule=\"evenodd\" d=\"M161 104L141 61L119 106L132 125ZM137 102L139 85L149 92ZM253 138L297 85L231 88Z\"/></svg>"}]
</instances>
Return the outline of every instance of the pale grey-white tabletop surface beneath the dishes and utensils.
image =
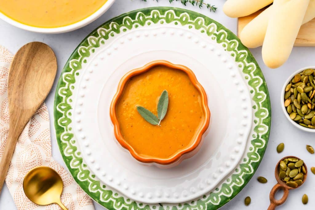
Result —
<instances>
[{"instance_id":1,"label":"pale grey-white tabletop surface beneath the dishes and utensils","mask_svg":"<svg viewBox=\"0 0 315 210\"><path fill-rule=\"evenodd\" d=\"M144 7L152 6L172 6L191 9L199 13L205 14L210 18L217 20L226 28L230 29L236 33L236 19L227 17L222 12L222 6L225 2L224 0L205 0L206 3L213 3L218 7L218 11L215 13L210 13L206 8L198 9L197 7L192 7L188 5L187 7L182 6L178 2L169 4L168 0L159 0L159 2L153 2L148 0L148 2L142 2L141 0L116 0L112 7L99 19L93 23L85 26L76 31L55 34L55 35L43 35L36 34L28 31L24 31L15 28L6 22L0 20L0 44L8 48L11 53L15 53L22 45L32 42L40 41L48 44L55 52L58 60L58 72L57 77L54 82L52 91L50 92L48 98L46 99L46 105L49 109L50 116L50 128L51 128L51 141L52 141L52 152L53 157L64 166L62 161L54 134L53 128L53 105L54 105L54 92L56 85L60 76L60 72L69 58L72 51L77 47L77 45L86 37L92 30L97 26L101 25L105 21L120 15L125 12L129 12L134 9L140 9ZM293 11L294 12L294 11ZM315 206L315 175L310 172L310 168L315 166L315 154L311 155L306 151L306 144L312 145L315 148L315 134L306 133L298 128L295 128L291 123L285 118L283 111L280 106L280 93L281 88L289 75L305 66L315 66L315 48L302 48L296 47L288 60L288 62L278 69L269 69L264 65L261 59L261 48L251 49L254 57L258 61L266 82L268 85L271 106L272 106L272 126L269 138L268 147L265 156L256 171L254 177L249 181L249 183L244 187L244 189L235 197L232 201L222 207L222 210L227 209L267 209L269 205L269 192L276 180L274 178L274 168L275 164L284 156L294 155L303 159L307 167L309 168L309 173L307 180L303 186L296 190L290 190L288 200L286 203L277 209L314 209ZM279 143L284 142L285 149L282 153L278 154L276 147ZM264 176L268 179L266 184L259 183L256 178L258 176ZM301 202L301 197L306 193L309 197L309 202L307 205L303 205ZM244 205L244 198L246 196L251 197L251 204L246 207ZM281 196L281 195L278 195ZM1 210L14 210L16 209L14 201L9 194L6 186L4 186L2 193L0 195L0 209ZM104 209L99 204L95 203L95 209Z\"/></svg>"}]
</instances>

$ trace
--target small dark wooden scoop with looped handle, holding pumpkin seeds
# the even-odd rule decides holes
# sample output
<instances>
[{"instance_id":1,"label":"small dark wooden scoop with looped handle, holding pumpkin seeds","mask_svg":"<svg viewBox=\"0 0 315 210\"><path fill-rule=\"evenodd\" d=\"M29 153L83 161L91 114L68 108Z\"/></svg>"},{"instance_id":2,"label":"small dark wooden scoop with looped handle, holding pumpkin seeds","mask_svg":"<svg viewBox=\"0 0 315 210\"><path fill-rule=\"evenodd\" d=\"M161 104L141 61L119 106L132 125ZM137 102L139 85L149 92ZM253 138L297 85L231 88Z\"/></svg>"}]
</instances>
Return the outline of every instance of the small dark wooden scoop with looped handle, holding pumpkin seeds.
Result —
<instances>
[{"instance_id":1,"label":"small dark wooden scoop with looped handle, holding pumpkin seeds","mask_svg":"<svg viewBox=\"0 0 315 210\"><path fill-rule=\"evenodd\" d=\"M280 164L280 161L284 160L285 158L289 158L289 157L295 157L295 156L286 156L286 157L282 158L281 160L279 160L279 162L276 165L275 177L276 177L276 180L277 180L278 184L274 185L273 188L270 191L270 195L269 195L270 206L268 207L268 210L274 210L277 206L282 205L288 198L289 190L294 190L294 189L299 188L300 186L302 186L302 185L300 185L300 186L297 186L295 188L294 187L289 187L284 181L282 181L279 178L279 164ZM300 158L298 158L298 157L295 157L295 158L300 160ZM306 174L304 174L304 178L302 180L303 181L302 184L304 184L304 182L306 180L306 177L307 177L307 167L306 167L305 163L303 165L305 167ZM283 196L282 196L282 198L280 200L276 200L275 199L275 195L276 195L276 192L279 189L282 189L284 191L284 193L283 193Z\"/></svg>"}]
</instances>

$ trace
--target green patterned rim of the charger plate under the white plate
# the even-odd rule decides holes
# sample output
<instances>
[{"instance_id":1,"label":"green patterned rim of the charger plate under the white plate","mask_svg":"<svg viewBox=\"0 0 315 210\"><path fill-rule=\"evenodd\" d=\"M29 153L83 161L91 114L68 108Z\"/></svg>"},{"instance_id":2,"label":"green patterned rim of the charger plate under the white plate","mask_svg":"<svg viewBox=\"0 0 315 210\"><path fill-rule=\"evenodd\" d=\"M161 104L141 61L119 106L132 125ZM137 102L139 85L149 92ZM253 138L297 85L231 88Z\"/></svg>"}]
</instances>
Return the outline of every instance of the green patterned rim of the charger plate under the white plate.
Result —
<instances>
[{"instance_id":1,"label":"green patterned rim of the charger plate under the white plate","mask_svg":"<svg viewBox=\"0 0 315 210\"><path fill-rule=\"evenodd\" d=\"M171 204L147 204L133 201L105 185L90 170L78 147L76 135L70 126L73 113L73 92L82 65L97 53L115 35L142 27L164 24L187 26L208 36L232 56L244 81L250 87L254 121L250 140L238 166L209 193L191 201ZM224 26L202 14L185 9L157 7L135 10L117 16L90 33L75 49L67 61L57 86L54 103L54 124L61 155L70 173L81 188L96 202L108 209L217 209L249 182L257 170L266 150L271 122L270 99L265 79L256 60L240 40Z\"/></svg>"}]
</instances>

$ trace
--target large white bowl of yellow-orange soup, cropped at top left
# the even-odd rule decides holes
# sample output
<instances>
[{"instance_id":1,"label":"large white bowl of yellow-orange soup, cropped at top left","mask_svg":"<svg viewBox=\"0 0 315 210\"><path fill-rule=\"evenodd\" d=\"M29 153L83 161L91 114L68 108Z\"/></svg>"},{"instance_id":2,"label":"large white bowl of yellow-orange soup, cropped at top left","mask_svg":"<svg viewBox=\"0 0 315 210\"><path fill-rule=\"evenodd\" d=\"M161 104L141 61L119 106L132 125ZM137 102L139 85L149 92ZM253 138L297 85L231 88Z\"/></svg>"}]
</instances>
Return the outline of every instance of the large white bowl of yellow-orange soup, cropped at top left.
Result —
<instances>
[{"instance_id":1,"label":"large white bowl of yellow-orange soup, cropped at top left","mask_svg":"<svg viewBox=\"0 0 315 210\"><path fill-rule=\"evenodd\" d=\"M0 1L0 19L27 31L63 33L81 28L106 12L115 0Z\"/></svg>"}]
</instances>

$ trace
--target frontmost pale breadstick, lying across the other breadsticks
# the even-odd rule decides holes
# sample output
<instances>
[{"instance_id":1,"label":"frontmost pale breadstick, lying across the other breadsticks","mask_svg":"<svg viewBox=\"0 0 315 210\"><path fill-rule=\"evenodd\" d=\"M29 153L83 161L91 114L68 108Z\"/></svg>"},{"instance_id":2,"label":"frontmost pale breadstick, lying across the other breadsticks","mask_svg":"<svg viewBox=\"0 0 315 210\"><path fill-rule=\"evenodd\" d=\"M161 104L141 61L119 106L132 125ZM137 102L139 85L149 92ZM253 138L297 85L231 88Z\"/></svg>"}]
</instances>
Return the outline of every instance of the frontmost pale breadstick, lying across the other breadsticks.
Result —
<instances>
[{"instance_id":1,"label":"frontmost pale breadstick, lying across the other breadsticks","mask_svg":"<svg viewBox=\"0 0 315 210\"><path fill-rule=\"evenodd\" d=\"M270 68L278 68L288 60L310 0L274 1L262 45L262 58Z\"/></svg>"}]
</instances>

